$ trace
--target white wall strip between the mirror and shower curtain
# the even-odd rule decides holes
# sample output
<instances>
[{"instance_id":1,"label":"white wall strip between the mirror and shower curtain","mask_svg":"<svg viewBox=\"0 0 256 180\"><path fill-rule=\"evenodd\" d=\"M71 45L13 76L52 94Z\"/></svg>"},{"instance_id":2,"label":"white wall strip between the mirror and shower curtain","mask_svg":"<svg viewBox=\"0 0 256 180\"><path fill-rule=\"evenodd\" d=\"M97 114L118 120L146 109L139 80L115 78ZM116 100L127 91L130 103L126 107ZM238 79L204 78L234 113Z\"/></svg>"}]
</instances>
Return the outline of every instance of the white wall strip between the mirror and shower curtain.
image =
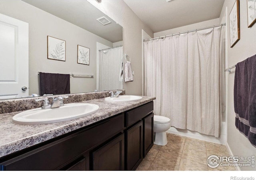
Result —
<instances>
[{"instance_id":1,"label":"white wall strip between the mirror and shower curtain","mask_svg":"<svg viewBox=\"0 0 256 180\"><path fill-rule=\"evenodd\" d=\"M150 36L153 32L123 0L88 0L96 8L123 26L124 54L131 58L134 81L124 82L126 94L142 95L142 29Z\"/></svg>"}]
</instances>

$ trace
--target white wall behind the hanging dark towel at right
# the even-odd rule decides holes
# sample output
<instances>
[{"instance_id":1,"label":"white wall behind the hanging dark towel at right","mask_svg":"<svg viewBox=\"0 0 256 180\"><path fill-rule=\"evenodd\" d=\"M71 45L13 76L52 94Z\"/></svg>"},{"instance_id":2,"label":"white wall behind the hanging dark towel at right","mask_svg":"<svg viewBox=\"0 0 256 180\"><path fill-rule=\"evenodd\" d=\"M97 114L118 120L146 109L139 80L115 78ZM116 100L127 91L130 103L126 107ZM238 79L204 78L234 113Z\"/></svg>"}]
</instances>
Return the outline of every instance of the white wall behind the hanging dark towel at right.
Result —
<instances>
[{"instance_id":1,"label":"white wall behind the hanging dark towel at right","mask_svg":"<svg viewBox=\"0 0 256 180\"><path fill-rule=\"evenodd\" d=\"M235 0L225 0L222 7L220 20L226 18L226 8L227 14L230 13L234 2ZM246 0L240 0L240 40L232 48L230 48L229 17L227 17L227 20L227 67L229 67L256 54L256 24L254 24L251 28L248 28ZM253 147L248 139L236 129L234 113L234 69L232 69L232 73L226 73L227 146L230 148L230 151L234 156L248 157L256 155L256 148ZM251 167L241 167L240 169L255 170L255 168Z\"/></svg>"}]
</instances>

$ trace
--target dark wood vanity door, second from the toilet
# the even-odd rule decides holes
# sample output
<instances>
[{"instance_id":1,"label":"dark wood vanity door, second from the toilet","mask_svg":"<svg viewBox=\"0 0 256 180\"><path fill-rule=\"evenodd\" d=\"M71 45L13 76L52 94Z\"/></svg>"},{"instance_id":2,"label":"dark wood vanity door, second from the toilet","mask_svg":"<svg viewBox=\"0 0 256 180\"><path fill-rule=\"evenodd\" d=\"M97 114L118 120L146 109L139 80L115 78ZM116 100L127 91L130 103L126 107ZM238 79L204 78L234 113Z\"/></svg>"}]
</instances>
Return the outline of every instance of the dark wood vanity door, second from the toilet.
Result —
<instances>
[{"instance_id":1,"label":"dark wood vanity door, second from the toilet","mask_svg":"<svg viewBox=\"0 0 256 180\"><path fill-rule=\"evenodd\" d=\"M126 170L136 170L142 161L143 121L126 131Z\"/></svg>"}]
</instances>

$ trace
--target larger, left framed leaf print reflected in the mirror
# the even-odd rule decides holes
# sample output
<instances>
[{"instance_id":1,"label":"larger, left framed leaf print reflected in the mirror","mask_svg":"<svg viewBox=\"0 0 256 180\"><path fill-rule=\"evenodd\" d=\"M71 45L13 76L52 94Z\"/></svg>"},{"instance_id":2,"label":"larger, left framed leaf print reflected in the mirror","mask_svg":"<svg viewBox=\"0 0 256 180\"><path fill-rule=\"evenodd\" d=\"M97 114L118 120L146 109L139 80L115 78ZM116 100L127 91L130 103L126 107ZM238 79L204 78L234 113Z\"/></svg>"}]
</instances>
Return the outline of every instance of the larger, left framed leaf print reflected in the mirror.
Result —
<instances>
[{"instance_id":1,"label":"larger, left framed leaf print reflected in the mirror","mask_svg":"<svg viewBox=\"0 0 256 180\"><path fill-rule=\"evenodd\" d=\"M47 36L47 58L66 61L66 41Z\"/></svg>"}]
</instances>

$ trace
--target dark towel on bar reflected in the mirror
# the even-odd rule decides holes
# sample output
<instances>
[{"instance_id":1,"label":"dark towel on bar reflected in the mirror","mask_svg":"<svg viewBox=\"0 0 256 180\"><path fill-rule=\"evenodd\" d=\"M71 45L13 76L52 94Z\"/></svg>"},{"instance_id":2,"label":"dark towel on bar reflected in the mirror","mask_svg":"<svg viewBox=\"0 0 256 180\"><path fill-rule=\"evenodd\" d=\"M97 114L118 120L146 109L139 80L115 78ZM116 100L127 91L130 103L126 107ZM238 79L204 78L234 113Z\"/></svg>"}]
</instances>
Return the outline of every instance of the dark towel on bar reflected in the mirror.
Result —
<instances>
[{"instance_id":1,"label":"dark towel on bar reflected in the mirror","mask_svg":"<svg viewBox=\"0 0 256 180\"><path fill-rule=\"evenodd\" d=\"M40 95L70 94L70 74L39 72Z\"/></svg>"}]
</instances>

